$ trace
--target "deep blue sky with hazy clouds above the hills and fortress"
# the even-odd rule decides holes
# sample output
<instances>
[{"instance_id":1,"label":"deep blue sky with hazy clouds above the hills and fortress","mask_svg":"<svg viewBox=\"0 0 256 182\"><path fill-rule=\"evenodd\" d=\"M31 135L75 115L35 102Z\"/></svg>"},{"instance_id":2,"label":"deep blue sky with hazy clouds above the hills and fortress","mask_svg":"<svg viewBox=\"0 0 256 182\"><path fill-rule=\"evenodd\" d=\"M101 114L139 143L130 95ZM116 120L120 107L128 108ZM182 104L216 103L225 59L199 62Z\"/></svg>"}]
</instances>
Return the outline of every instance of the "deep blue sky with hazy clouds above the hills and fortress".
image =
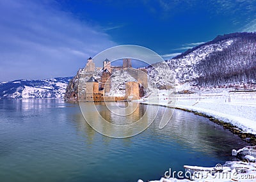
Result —
<instances>
[{"instance_id":1,"label":"deep blue sky with hazy clouds above the hills and fortress","mask_svg":"<svg viewBox=\"0 0 256 182\"><path fill-rule=\"evenodd\" d=\"M0 0L0 82L74 76L117 45L170 59L219 34L256 31L255 10L247 0Z\"/></svg>"}]
</instances>

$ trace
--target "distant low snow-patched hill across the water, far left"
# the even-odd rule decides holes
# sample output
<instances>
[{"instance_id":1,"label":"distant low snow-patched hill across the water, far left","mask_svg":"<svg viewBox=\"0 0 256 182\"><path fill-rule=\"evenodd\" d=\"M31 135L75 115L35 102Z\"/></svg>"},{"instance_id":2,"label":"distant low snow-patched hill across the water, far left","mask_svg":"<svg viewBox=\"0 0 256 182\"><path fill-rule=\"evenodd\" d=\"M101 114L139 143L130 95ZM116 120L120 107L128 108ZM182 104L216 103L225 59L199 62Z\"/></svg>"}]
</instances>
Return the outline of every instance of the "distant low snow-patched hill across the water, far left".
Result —
<instances>
[{"instance_id":1,"label":"distant low snow-patched hill across the water, far left","mask_svg":"<svg viewBox=\"0 0 256 182\"><path fill-rule=\"evenodd\" d=\"M72 77L0 83L0 98L63 98Z\"/></svg>"}]
</instances>

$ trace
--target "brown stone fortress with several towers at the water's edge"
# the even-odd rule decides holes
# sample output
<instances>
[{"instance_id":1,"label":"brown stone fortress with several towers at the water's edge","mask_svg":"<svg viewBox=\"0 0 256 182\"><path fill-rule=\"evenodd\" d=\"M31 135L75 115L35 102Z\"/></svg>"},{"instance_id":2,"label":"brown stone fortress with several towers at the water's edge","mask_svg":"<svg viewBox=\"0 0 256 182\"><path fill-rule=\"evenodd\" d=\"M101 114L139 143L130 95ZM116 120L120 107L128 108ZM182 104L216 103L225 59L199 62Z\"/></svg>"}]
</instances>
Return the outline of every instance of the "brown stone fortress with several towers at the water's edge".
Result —
<instances>
[{"instance_id":1,"label":"brown stone fortress with several towers at the water's edge","mask_svg":"<svg viewBox=\"0 0 256 182\"><path fill-rule=\"evenodd\" d=\"M96 70L100 71L100 79L90 77L85 82L84 93L79 96L80 100L87 102L102 102L102 101L124 101L124 100L137 100L145 95L145 90L148 87L147 70L139 68L132 68L131 59L123 59L122 66L111 66L111 61L106 59L103 61L102 68L95 68L92 57L87 60L84 71L86 73L93 73ZM125 82L125 95L124 96L107 96L111 90L111 75L113 72L127 72L136 81Z\"/></svg>"}]
</instances>

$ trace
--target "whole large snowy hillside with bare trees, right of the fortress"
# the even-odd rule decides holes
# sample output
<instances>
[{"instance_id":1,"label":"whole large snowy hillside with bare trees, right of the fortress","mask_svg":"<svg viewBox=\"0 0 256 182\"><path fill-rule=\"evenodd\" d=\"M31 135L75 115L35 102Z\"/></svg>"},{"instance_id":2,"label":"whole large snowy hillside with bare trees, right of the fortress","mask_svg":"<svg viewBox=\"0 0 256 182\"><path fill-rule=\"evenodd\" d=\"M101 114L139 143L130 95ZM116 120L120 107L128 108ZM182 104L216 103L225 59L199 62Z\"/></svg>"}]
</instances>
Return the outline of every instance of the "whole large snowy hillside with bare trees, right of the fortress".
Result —
<instances>
[{"instance_id":1,"label":"whole large snowy hillside with bare trees, right of the fortress","mask_svg":"<svg viewBox=\"0 0 256 182\"><path fill-rule=\"evenodd\" d=\"M255 82L256 33L217 36L166 62L179 82L199 86Z\"/></svg>"}]
</instances>

